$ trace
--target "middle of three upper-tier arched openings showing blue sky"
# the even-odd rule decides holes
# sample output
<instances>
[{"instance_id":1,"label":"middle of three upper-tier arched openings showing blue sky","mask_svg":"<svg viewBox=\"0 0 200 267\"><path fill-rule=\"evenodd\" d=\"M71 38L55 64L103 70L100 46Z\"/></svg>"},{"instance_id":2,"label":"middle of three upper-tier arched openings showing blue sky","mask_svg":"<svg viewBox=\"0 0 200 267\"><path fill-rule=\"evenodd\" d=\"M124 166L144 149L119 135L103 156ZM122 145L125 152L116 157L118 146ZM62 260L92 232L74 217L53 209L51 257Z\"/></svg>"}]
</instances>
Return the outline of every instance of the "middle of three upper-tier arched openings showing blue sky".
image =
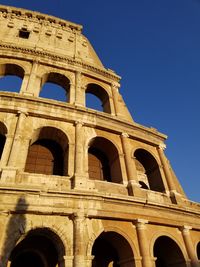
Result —
<instances>
[{"instance_id":1,"label":"middle of three upper-tier arched openings showing blue sky","mask_svg":"<svg viewBox=\"0 0 200 267\"><path fill-rule=\"evenodd\" d=\"M69 101L70 81L60 73L51 72L42 78L40 97L62 102Z\"/></svg>"}]
</instances>

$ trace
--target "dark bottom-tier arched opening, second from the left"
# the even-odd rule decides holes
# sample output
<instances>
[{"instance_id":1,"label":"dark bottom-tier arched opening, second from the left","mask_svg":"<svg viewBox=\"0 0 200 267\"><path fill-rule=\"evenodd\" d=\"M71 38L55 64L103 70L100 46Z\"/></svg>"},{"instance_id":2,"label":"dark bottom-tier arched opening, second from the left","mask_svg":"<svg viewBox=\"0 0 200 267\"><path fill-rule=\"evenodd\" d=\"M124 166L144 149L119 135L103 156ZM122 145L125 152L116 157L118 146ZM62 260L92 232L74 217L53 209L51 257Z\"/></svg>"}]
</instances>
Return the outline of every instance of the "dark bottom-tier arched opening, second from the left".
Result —
<instances>
[{"instance_id":1,"label":"dark bottom-tier arched opening, second from the left","mask_svg":"<svg viewBox=\"0 0 200 267\"><path fill-rule=\"evenodd\" d=\"M128 241L116 232L103 232L92 247L92 267L134 267L134 255Z\"/></svg>"}]
</instances>

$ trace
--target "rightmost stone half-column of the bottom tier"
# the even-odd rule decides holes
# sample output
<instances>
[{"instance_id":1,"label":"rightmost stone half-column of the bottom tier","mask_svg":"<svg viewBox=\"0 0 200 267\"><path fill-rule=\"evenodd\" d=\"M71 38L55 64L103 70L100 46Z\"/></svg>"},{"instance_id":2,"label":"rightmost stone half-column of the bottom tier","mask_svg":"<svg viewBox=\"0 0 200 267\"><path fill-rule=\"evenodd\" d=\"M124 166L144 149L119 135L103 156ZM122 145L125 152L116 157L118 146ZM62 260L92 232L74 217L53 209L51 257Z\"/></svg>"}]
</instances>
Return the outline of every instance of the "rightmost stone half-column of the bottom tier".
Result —
<instances>
[{"instance_id":1,"label":"rightmost stone half-column of the bottom tier","mask_svg":"<svg viewBox=\"0 0 200 267\"><path fill-rule=\"evenodd\" d=\"M190 226L183 226L181 228L181 233L183 236L183 240L184 240L184 244L185 244L185 248L186 248L188 257L191 260L191 267L198 267L199 263L198 263L198 259L197 259L196 254L195 254L195 248L192 244L192 239L191 239L191 235L190 235L191 229L192 229L192 227L190 227Z\"/></svg>"}]
</instances>

